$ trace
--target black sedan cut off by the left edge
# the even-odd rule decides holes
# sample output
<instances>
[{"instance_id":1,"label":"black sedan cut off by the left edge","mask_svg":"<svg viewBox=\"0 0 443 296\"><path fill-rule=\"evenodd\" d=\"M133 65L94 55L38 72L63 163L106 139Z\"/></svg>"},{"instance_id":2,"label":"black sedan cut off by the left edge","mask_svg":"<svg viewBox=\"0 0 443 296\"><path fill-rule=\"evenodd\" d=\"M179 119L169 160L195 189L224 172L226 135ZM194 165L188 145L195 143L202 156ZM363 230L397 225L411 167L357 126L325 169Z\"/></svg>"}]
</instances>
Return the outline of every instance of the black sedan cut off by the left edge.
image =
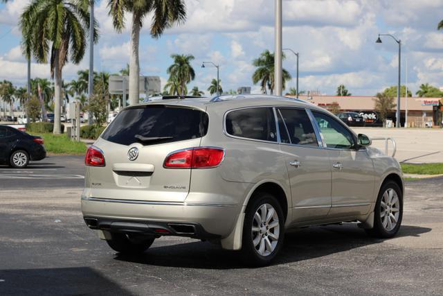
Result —
<instances>
[{"instance_id":1,"label":"black sedan cut off by the left edge","mask_svg":"<svg viewBox=\"0 0 443 296\"><path fill-rule=\"evenodd\" d=\"M41 160L45 157L46 150L41 137L0 125L0 164L25 168L30 160Z\"/></svg>"}]
</instances>

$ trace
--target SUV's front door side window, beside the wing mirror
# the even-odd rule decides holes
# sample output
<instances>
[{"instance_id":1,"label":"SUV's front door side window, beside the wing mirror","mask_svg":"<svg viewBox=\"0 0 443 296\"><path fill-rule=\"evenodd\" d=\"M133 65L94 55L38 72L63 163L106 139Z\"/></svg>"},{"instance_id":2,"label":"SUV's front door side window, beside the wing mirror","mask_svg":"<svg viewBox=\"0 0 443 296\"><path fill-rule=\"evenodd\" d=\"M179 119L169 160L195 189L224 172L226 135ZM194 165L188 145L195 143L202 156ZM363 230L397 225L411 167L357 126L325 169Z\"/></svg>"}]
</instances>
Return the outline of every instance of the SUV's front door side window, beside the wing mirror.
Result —
<instances>
[{"instance_id":1,"label":"SUV's front door side window, beside the wing mirror","mask_svg":"<svg viewBox=\"0 0 443 296\"><path fill-rule=\"evenodd\" d=\"M312 113L320 126L327 148L350 149L354 146L354 137L341 123L326 114Z\"/></svg>"}]
</instances>

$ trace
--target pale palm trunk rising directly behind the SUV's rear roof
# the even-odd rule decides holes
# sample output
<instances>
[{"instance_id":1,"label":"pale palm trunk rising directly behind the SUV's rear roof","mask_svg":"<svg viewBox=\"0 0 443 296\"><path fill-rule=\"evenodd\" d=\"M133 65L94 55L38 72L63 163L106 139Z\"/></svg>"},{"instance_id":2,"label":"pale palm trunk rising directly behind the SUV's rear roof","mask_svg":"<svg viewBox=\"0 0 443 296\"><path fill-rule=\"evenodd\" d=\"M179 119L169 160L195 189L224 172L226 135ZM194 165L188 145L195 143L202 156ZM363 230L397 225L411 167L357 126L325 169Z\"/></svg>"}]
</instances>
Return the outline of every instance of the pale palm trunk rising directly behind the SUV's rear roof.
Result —
<instances>
[{"instance_id":1,"label":"pale palm trunk rising directly behind the SUV's rear roof","mask_svg":"<svg viewBox=\"0 0 443 296\"><path fill-rule=\"evenodd\" d=\"M138 61L138 44L140 40L140 16L132 16L131 54L129 56L129 105L138 103L140 97L140 64Z\"/></svg>"}]
</instances>

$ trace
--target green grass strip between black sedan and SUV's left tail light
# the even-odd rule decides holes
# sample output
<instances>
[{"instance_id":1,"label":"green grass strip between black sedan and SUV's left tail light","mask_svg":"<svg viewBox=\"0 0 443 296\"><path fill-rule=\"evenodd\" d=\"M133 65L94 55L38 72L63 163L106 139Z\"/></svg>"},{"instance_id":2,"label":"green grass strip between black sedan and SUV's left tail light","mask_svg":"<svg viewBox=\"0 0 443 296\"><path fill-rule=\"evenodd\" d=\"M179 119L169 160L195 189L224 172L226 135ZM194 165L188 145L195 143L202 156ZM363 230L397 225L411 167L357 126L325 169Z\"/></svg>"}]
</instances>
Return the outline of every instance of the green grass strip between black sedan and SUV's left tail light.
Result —
<instances>
[{"instance_id":1,"label":"green grass strip between black sedan and SUV's left tail light","mask_svg":"<svg viewBox=\"0 0 443 296\"><path fill-rule=\"evenodd\" d=\"M35 134L44 139L46 152L50 154L84 155L87 146L83 142L71 141L66 134Z\"/></svg>"}]
</instances>

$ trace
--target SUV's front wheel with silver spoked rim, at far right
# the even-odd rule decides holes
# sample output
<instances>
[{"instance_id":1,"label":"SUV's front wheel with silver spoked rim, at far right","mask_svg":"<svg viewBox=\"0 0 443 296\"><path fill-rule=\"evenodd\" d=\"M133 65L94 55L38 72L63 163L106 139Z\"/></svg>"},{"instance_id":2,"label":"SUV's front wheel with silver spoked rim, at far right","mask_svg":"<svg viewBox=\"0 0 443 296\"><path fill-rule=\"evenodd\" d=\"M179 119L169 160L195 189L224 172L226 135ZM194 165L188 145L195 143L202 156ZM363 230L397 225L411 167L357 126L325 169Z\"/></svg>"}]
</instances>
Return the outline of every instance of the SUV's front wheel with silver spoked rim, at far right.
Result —
<instances>
[{"instance_id":1,"label":"SUV's front wheel with silver spoked rim, at far right","mask_svg":"<svg viewBox=\"0 0 443 296\"><path fill-rule=\"evenodd\" d=\"M374 238L391 238L399 231L403 218L403 194L396 182L381 186L374 208L374 228L365 229Z\"/></svg>"}]
</instances>

